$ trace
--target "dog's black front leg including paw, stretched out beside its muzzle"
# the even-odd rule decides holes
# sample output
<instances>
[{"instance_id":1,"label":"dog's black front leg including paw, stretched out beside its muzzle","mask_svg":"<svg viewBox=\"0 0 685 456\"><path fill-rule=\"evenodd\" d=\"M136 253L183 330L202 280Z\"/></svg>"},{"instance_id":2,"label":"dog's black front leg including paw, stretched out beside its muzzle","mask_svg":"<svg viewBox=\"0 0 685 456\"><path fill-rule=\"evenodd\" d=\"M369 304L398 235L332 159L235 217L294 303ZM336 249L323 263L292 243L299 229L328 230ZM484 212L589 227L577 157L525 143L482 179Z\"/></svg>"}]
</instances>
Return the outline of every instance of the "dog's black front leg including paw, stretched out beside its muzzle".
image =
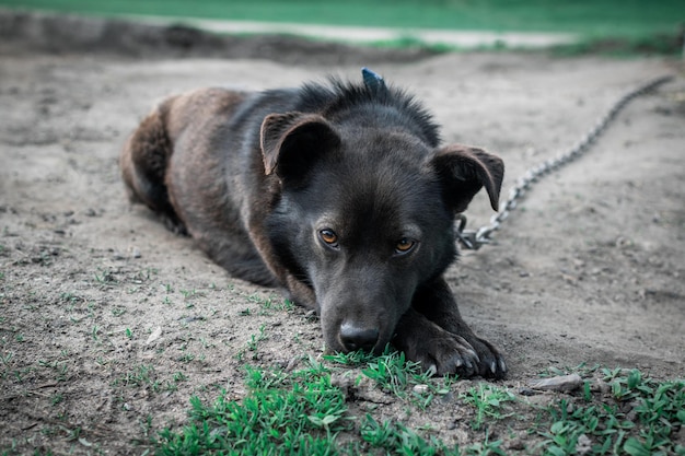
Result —
<instances>
[{"instance_id":1,"label":"dog's black front leg including paw, stretched out beside its muzzle","mask_svg":"<svg viewBox=\"0 0 685 456\"><path fill-rule=\"evenodd\" d=\"M399 319L393 343L410 360L439 375L502 378L507 372L497 349L464 323L443 279L417 291L413 307Z\"/></svg>"}]
</instances>

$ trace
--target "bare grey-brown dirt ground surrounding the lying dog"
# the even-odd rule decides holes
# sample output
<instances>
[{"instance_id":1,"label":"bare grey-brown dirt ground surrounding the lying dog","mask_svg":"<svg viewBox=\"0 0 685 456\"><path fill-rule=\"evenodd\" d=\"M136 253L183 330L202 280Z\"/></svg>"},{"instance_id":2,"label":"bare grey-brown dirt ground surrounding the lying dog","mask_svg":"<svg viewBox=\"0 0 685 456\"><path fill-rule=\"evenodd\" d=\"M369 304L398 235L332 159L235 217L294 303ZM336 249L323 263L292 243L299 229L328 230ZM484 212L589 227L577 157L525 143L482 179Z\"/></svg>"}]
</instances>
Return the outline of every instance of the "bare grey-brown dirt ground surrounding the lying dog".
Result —
<instances>
[{"instance_id":1,"label":"bare grey-brown dirt ground surrounding the lying dog","mask_svg":"<svg viewBox=\"0 0 685 456\"><path fill-rule=\"evenodd\" d=\"M625 91L674 74L631 103L588 155L542 180L496 243L465 252L449 280L466 320L506 353L503 385L581 363L685 375L681 62L504 52L384 58L333 46L328 57L344 52L336 63L297 43L290 61L249 46L242 58L164 49L140 58L3 39L0 448L141 454L154 430L183 424L190 396L244 394L244 364L292 367L322 354L316 320L283 308L276 291L232 279L190 239L130 206L117 156L166 95L291 86L328 73L358 79L362 66L422 100L445 141L502 156L504 197ZM467 212L472 227L487 223L488 211L479 196ZM376 407L402 418L392 399ZM467 440L431 413L442 439Z\"/></svg>"}]
</instances>

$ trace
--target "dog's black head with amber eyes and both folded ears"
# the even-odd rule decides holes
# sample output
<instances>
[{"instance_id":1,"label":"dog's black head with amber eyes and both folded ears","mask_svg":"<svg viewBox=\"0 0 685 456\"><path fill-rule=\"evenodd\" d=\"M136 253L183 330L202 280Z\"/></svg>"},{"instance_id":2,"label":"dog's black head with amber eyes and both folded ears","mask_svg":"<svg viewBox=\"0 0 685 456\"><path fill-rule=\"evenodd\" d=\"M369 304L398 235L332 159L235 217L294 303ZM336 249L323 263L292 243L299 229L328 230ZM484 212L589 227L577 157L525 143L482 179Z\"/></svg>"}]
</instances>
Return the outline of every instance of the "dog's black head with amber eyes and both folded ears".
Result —
<instances>
[{"instance_id":1,"label":"dog's black head with amber eyes and both folded ears","mask_svg":"<svg viewBox=\"0 0 685 456\"><path fill-rule=\"evenodd\" d=\"M277 182L271 245L314 291L333 351L383 350L415 292L454 260L455 213L483 187L497 210L503 176L483 150L316 114L269 115L262 150Z\"/></svg>"}]
</instances>

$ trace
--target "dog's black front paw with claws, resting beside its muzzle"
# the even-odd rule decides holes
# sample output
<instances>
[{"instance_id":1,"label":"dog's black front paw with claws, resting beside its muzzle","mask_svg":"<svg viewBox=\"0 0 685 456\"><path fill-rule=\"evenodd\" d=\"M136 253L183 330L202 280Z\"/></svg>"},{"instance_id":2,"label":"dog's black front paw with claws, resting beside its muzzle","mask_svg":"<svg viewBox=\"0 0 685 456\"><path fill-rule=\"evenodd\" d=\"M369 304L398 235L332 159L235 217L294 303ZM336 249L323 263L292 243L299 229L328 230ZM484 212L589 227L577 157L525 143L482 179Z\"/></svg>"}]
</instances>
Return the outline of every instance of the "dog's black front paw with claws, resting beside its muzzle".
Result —
<instances>
[{"instance_id":1,"label":"dog's black front paw with claws, resting beside its muzzle","mask_svg":"<svg viewBox=\"0 0 685 456\"><path fill-rule=\"evenodd\" d=\"M471 340L423 320L398 331L393 342L409 360L437 375L502 378L507 364L501 354L489 342L468 336Z\"/></svg>"}]
</instances>

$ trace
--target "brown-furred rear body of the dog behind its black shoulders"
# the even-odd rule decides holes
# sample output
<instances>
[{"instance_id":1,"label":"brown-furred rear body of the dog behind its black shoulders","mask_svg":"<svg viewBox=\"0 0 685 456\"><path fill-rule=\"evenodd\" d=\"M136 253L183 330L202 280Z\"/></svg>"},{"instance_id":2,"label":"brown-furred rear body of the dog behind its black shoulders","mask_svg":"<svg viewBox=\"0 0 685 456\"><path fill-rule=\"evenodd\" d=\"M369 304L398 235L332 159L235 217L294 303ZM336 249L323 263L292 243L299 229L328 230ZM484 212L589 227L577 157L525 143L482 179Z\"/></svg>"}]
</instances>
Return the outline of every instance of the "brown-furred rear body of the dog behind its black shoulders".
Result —
<instances>
[{"instance_id":1,"label":"brown-furred rear body of the dog behind its black shoulders","mask_svg":"<svg viewBox=\"0 0 685 456\"><path fill-rule=\"evenodd\" d=\"M254 95L252 95L254 96ZM120 156L129 198L156 212L166 226L189 234L232 274L276 285L241 219L239 177L244 135L229 135L230 119L251 94L202 89L172 96L150 113Z\"/></svg>"}]
</instances>

